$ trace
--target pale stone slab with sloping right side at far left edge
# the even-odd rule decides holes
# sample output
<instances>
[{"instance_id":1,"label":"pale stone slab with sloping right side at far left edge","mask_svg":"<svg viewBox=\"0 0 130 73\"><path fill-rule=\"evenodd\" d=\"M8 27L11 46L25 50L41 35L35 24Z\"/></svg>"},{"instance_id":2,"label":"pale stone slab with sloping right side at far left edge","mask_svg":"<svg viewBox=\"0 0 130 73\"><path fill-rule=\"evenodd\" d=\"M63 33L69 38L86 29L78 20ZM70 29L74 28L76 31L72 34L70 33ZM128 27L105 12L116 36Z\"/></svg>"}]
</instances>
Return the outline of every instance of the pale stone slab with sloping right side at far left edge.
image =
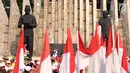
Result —
<instances>
[{"instance_id":1,"label":"pale stone slab with sloping right side at far left edge","mask_svg":"<svg viewBox=\"0 0 130 73\"><path fill-rule=\"evenodd\" d=\"M0 0L0 55L7 54L8 46L8 17L6 15L2 0Z\"/></svg>"}]
</instances>

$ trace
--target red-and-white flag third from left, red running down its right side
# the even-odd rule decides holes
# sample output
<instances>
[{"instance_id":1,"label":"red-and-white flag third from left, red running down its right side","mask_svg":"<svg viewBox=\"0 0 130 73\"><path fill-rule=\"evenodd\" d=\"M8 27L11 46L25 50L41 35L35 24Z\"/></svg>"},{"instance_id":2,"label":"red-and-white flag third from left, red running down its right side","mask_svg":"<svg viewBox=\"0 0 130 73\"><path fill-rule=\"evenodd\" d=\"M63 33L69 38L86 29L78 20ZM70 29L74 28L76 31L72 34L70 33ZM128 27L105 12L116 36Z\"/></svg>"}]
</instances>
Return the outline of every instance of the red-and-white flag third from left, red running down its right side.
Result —
<instances>
[{"instance_id":1,"label":"red-and-white flag third from left, red running down its right side","mask_svg":"<svg viewBox=\"0 0 130 73\"><path fill-rule=\"evenodd\" d=\"M64 48L64 54L62 55L59 73L76 73L74 48L72 44L70 29L67 29L67 35L68 37Z\"/></svg>"}]
</instances>

